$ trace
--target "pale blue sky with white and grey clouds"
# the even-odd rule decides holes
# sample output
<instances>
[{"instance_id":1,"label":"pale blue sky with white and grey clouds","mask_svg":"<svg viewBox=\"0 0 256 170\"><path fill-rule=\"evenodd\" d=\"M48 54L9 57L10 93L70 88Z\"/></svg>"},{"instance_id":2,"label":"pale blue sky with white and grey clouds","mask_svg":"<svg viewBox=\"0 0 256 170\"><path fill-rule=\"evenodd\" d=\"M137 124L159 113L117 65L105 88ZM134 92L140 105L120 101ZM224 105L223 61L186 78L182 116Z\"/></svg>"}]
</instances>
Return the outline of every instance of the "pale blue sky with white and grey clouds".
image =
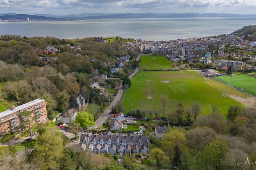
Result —
<instances>
[{"instance_id":1,"label":"pale blue sky with white and grey clouds","mask_svg":"<svg viewBox=\"0 0 256 170\"><path fill-rule=\"evenodd\" d=\"M0 13L237 13L256 14L256 0L0 0Z\"/></svg>"}]
</instances>

